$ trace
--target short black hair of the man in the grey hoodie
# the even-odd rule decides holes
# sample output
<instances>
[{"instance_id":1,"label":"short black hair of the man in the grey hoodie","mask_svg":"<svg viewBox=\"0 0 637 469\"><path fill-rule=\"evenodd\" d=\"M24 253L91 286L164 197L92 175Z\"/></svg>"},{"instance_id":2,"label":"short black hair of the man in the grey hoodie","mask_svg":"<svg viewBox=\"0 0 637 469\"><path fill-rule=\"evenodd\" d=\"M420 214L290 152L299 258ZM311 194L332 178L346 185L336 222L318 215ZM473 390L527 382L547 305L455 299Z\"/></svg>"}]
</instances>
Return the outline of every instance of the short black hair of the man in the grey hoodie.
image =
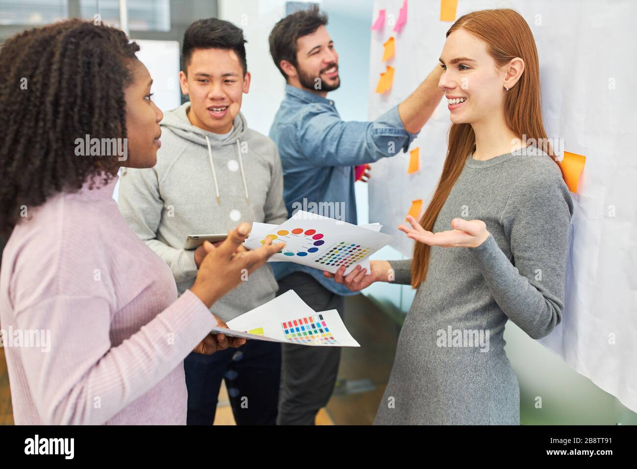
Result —
<instances>
[{"instance_id":1,"label":"short black hair of the man in the grey hoodie","mask_svg":"<svg viewBox=\"0 0 637 469\"><path fill-rule=\"evenodd\" d=\"M194 50L215 48L234 50L241 62L243 75L245 75L248 71L248 63L245 58L245 43L247 41L243 38L243 29L234 26L229 21L218 18L196 20L183 34L183 73L186 73L186 68Z\"/></svg>"}]
</instances>

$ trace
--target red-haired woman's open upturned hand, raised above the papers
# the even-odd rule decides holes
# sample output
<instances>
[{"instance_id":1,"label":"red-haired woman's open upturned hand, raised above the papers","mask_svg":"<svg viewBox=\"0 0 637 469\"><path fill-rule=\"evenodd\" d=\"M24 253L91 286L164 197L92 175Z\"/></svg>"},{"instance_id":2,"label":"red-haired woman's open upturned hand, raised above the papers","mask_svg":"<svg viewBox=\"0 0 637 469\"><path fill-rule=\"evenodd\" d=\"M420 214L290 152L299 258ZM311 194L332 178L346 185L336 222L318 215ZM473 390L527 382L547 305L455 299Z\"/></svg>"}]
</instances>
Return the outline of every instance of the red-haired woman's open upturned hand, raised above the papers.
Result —
<instances>
[{"instance_id":1,"label":"red-haired woman's open upturned hand, raised above the papers","mask_svg":"<svg viewBox=\"0 0 637 469\"><path fill-rule=\"evenodd\" d=\"M412 227L399 225L398 229L404 232L408 238L418 242L424 242L429 246L441 246L443 248L477 248L487 240L489 231L487 224L482 220L464 220L454 218L448 231L432 233L420 226L420 223L408 215L407 220Z\"/></svg>"}]
</instances>

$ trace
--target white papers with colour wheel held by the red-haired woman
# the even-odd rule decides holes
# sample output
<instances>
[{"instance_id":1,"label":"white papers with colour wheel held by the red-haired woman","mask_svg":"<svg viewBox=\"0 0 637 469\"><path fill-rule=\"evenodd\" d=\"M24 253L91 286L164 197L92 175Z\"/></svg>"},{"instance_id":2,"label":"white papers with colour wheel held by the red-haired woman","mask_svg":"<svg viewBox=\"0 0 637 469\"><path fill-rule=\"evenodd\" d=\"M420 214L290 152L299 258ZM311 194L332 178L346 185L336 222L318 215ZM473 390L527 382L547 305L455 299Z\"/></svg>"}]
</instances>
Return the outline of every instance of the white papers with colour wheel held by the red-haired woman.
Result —
<instances>
[{"instance_id":1,"label":"white papers with colour wheel held by the red-haired woman","mask_svg":"<svg viewBox=\"0 0 637 469\"><path fill-rule=\"evenodd\" d=\"M259 248L266 238L272 239L273 244L285 242L285 249L273 255L271 260L295 262L332 274L345 265L347 275L394 239L378 232L381 228L378 224L356 226L302 210L267 231L255 225L243 243L246 248Z\"/></svg>"}]
</instances>

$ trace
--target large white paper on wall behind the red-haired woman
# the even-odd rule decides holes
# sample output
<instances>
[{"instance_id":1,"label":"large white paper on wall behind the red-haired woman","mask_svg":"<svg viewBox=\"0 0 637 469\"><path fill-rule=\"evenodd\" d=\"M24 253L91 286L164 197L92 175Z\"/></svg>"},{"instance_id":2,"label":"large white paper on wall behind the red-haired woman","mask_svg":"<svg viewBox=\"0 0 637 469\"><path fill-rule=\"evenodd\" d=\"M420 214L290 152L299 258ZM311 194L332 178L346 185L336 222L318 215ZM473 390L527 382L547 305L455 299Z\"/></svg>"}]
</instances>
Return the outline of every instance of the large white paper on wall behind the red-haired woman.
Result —
<instances>
[{"instance_id":1,"label":"large white paper on wall behind the red-haired woman","mask_svg":"<svg viewBox=\"0 0 637 469\"><path fill-rule=\"evenodd\" d=\"M403 0L376 0L398 17ZM459 0L456 19L483 8L514 8L533 31L540 56L545 128L564 150L586 156L571 193L575 214L562 323L541 343L637 412L637 3L582 0ZM452 22L440 21L440 1L408 2L400 33L385 24L371 31L369 118L404 100L433 69ZM394 36L396 54L382 62ZM380 73L395 69L391 91L376 94ZM420 147L420 171L407 174L409 154L374 163L369 213L385 225L404 255L412 242L395 229L412 200L427 207L445 160L449 112L443 101L411 148ZM422 212L421 212L422 213ZM394 230L394 232L392 232Z\"/></svg>"}]
</instances>

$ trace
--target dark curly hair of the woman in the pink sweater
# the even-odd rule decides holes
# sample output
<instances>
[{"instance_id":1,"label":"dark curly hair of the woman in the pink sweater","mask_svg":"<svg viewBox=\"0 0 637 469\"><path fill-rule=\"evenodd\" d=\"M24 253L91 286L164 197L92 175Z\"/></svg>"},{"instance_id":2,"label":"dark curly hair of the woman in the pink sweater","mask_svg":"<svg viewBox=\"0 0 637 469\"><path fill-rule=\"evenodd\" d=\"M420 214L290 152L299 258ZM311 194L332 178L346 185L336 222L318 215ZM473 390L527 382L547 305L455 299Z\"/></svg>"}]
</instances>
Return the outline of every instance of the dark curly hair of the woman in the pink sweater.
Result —
<instances>
[{"instance_id":1,"label":"dark curly hair of the woman in the pink sweater","mask_svg":"<svg viewBox=\"0 0 637 469\"><path fill-rule=\"evenodd\" d=\"M126 138L124 89L140 47L109 26L79 19L29 29L0 47L0 233L20 207L104 182L117 156L76 156L75 140Z\"/></svg>"}]
</instances>

